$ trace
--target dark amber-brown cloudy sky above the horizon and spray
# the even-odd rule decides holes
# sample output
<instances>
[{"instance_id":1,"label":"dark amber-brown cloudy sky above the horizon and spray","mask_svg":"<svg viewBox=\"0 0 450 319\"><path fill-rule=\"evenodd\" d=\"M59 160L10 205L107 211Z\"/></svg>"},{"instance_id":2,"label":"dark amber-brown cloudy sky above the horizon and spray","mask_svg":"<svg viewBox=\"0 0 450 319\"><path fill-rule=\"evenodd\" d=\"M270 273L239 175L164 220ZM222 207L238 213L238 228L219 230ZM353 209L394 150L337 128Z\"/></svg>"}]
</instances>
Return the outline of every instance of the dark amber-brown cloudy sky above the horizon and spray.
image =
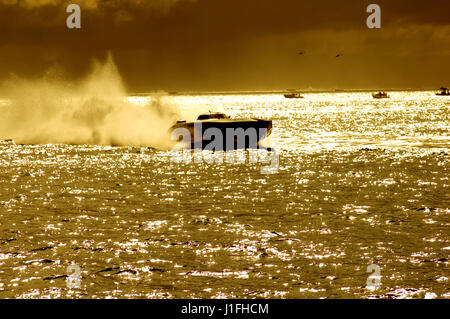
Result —
<instances>
[{"instance_id":1,"label":"dark amber-brown cloudy sky above the horizon and spray","mask_svg":"<svg viewBox=\"0 0 450 319\"><path fill-rule=\"evenodd\" d=\"M70 3L81 29L66 26ZM380 29L366 25L371 3ZM0 0L0 81L77 80L111 53L135 93L439 88L449 12L448 0Z\"/></svg>"}]
</instances>

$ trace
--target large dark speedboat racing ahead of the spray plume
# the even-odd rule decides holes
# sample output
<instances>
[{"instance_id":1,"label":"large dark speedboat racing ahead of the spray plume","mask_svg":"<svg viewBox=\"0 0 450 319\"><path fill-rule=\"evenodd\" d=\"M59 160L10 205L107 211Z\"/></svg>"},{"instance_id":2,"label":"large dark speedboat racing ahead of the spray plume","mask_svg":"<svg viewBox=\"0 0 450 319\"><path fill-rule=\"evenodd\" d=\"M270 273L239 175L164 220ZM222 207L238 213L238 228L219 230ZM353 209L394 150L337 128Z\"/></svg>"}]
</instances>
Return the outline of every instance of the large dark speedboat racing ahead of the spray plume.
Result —
<instances>
[{"instance_id":1,"label":"large dark speedboat racing ahead of the spray plume","mask_svg":"<svg viewBox=\"0 0 450 319\"><path fill-rule=\"evenodd\" d=\"M191 149L236 150L265 148L259 142L272 133L272 121L232 119L223 113L205 113L194 122L177 121L169 130L172 139Z\"/></svg>"}]
</instances>

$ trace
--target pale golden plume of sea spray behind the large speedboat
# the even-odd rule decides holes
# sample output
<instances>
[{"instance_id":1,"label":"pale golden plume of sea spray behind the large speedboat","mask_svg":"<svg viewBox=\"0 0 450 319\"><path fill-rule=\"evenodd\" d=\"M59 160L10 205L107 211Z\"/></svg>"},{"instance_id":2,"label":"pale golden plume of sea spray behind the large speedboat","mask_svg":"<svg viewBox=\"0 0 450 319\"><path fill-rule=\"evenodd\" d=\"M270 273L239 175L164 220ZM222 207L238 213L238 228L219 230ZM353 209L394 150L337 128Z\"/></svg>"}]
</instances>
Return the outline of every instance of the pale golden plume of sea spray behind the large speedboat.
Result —
<instances>
[{"instance_id":1,"label":"pale golden plume of sea spray behind the large speedboat","mask_svg":"<svg viewBox=\"0 0 450 319\"><path fill-rule=\"evenodd\" d=\"M170 147L168 129L176 107L161 95L144 105L127 101L126 89L111 57L95 62L80 82L55 76L12 78L2 92L10 103L0 115L0 138L24 144L99 144ZM4 95L4 94L3 94Z\"/></svg>"}]
</instances>

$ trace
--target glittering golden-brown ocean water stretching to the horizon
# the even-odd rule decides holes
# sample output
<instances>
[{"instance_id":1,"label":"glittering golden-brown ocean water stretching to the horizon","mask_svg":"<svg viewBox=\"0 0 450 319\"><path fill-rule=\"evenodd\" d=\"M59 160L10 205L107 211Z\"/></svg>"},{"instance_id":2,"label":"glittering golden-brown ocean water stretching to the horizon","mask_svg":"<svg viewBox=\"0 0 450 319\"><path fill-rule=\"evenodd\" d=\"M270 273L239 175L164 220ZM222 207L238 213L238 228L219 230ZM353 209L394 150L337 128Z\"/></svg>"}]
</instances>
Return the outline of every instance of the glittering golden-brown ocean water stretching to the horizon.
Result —
<instances>
[{"instance_id":1,"label":"glittering golden-brown ocean water stretching to the horizon","mask_svg":"<svg viewBox=\"0 0 450 319\"><path fill-rule=\"evenodd\" d=\"M450 298L450 98L390 95L165 98L273 119L273 174L1 142L0 298Z\"/></svg>"}]
</instances>

